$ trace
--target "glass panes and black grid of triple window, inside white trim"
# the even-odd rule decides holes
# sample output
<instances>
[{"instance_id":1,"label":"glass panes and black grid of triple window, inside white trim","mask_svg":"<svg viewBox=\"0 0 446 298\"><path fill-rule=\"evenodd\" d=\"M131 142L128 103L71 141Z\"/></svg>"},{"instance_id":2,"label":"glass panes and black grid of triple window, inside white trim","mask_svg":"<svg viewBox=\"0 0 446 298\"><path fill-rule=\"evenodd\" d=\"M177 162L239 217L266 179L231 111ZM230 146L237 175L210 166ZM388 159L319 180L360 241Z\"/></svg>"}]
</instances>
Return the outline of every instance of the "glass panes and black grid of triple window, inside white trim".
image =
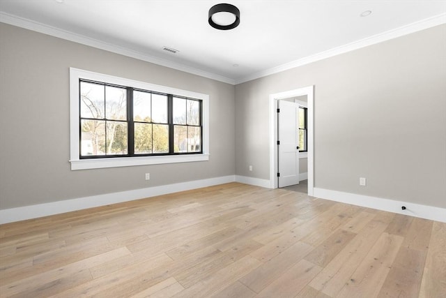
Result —
<instances>
[{"instance_id":1,"label":"glass panes and black grid of triple window, inside white trim","mask_svg":"<svg viewBox=\"0 0 446 298\"><path fill-rule=\"evenodd\" d=\"M79 90L79 158L203 152L201 100L87 80Z\"/></svg>"}]
</instances>

